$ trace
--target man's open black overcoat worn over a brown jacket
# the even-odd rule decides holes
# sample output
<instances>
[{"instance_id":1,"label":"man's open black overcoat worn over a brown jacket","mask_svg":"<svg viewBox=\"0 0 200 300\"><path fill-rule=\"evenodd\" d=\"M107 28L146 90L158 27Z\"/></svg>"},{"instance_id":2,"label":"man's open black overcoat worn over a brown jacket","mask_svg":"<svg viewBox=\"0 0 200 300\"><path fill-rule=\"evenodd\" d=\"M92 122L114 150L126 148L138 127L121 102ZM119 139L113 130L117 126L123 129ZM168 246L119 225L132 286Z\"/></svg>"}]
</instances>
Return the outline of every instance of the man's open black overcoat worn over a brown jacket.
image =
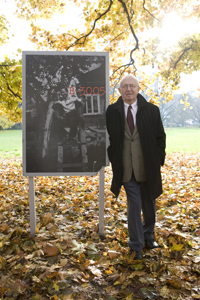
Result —
<instances>
[{"instance_id":1,"label":"man's open black overcoat worn over a brown jacket","mask_svg":"<svg viewBox=\"0 0 200 300\"><path fill-rule=\"evenodd\" d=\"M147 178L144 186L149 198L155 199L162 194L160 168L165 161L166 135L159 108L147 102L140 94L137 95L137 99L136 124L140 135ZM121 96L115 103L108 106L106 125L110 140L107 151L113 171L111 191L118 197L123 184L122 149L125 128L124 101Z\"/></svg>"}]
</instances>

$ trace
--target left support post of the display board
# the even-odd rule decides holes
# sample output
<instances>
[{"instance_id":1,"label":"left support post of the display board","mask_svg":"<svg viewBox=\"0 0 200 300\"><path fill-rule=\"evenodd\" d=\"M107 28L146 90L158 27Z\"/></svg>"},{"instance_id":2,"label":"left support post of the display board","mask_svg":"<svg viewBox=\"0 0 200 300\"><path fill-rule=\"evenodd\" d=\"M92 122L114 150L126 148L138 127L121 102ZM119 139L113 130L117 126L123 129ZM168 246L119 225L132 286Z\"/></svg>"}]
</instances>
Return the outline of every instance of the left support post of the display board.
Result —
<instances>
[{"instance_id":1,"label":"left support post of the display board","mask_svg":"<svg viewBox=\"0 0 200 300\"><path fill-rule=\"evenodd\" d=\"M31 236L36 233L36 211L35 211L35 180L29 177L29 209L30 209L30 230Z\"/></svg>"}]
</instances>

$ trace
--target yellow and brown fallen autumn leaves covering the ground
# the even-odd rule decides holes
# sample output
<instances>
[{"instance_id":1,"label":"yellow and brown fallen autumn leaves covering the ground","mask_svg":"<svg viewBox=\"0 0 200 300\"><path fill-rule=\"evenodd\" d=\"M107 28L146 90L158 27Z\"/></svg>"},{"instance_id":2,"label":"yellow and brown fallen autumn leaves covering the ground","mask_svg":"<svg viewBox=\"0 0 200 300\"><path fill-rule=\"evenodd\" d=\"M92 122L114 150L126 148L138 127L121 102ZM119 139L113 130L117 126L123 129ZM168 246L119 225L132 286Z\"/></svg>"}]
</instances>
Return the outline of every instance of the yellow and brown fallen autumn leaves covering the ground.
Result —
<instances>
[{"instance_id":1,"label":"yellow and brown fallen autumn leaves covering the ground","mask_svg":"<svg viewBox=\"0 0 200 300\"><path fill-rule=\"evenodd\" d=\"M128 255L126 197L105 174L105 239L98 176L36 177L30 236L28 179L20 159L0 162L0 299L200 299L199 154L167 155L157 200L159 249Z\"/></svg>"}]
</instances>

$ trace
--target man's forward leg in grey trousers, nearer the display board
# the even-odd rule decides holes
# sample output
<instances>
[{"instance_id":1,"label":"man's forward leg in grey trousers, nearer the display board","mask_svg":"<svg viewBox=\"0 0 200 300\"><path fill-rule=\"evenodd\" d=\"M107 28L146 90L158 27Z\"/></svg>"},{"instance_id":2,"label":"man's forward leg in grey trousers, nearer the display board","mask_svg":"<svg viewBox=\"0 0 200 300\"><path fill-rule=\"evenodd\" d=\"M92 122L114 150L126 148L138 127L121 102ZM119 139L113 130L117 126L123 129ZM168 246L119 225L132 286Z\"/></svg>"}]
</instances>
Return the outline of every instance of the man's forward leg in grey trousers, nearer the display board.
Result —
<instances>
[{"instance_id":1,"label":"man's forward leg in grey trousers, nearer the display board","mask_svg":"<svg viewBox=\"0 0 200 300\"><path fill-rule=\"evenodd\" d=\"M141 187L135 178L132 177L129 182L124 183L124 188L127 195L128 206L128 244L133 251L141 251L144 246L143 225L141 220Z\"/></svg>"}]
</instances>

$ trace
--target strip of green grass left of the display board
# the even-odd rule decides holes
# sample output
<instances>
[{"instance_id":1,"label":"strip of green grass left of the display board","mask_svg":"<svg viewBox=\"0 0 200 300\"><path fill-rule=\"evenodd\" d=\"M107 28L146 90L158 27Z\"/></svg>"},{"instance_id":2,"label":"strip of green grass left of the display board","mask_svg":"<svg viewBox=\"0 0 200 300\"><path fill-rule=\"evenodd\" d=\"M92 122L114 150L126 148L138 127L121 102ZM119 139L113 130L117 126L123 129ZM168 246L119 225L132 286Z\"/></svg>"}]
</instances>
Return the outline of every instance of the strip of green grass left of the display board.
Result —
<instances>
[{"instance_id":1,"label":"strip of green grass left of the display board","mask_svg":"<svg viewBox=\"0 0 200 300\"><path fill-rule=\"evenodd\" d=\"M22 130L0 130L0 159L22 156Z\"/></svg>"}]
</instances>

